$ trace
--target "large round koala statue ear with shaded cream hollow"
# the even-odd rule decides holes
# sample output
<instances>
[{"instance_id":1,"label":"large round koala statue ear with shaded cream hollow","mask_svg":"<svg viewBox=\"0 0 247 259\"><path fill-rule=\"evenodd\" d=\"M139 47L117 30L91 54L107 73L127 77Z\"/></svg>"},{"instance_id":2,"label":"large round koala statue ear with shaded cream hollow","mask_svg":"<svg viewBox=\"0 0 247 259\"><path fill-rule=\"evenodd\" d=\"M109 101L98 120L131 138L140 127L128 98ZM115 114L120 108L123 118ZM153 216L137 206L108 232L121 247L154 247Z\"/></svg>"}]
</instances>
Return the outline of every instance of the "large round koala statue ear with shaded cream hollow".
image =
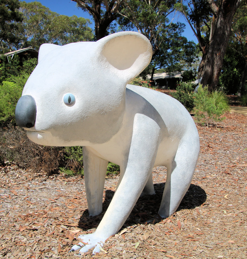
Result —
<instances>
[{"instance_id":1,"label":"large round koala statue ear with shaded cream hollow","mask_svg":"<svg viewBox=\"0 0 247 259\"><path fill-rule=\"evenodd\" d=\"M118 32L97 41L101 62L117 69L127 82L139 75L150 63L152 46L150 41L138 32Z\"/></svg>"}]
</instances>

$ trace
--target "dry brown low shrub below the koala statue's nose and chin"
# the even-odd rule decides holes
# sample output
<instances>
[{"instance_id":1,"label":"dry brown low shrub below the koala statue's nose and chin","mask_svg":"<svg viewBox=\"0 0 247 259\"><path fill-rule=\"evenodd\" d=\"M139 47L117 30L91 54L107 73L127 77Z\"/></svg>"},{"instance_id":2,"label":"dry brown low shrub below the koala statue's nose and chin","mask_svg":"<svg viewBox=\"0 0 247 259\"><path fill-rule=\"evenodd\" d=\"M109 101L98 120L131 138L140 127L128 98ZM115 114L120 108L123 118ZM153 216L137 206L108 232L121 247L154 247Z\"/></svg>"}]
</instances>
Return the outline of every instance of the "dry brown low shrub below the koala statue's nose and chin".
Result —
<instances>
[{"instance_id":1,"label":"dry brown low shrub below the koala statue's nose and chin","mask_svg":"<svg viewBox=\"0 0 247 259\"><path fill-rule=\"evenodd\" d=\"M64 160L64 148L40 146L27 138L25 130L11 123L0 127L0 163L15 162L33 172L44 171L50 175L59 172Z\"/></svg>"}]
</instances>

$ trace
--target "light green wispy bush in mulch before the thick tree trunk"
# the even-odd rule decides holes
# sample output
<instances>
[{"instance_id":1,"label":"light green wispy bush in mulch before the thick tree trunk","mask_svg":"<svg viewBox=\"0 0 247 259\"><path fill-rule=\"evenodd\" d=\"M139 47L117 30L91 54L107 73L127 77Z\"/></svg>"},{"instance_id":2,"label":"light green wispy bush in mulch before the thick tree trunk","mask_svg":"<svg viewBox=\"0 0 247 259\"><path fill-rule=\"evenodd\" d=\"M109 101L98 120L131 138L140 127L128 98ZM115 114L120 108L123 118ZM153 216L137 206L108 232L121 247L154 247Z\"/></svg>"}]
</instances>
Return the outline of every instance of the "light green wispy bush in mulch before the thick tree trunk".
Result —
<instances>
[{"instance_id":1,"label":"light green wispy bush in mulch before the thick tree trunk","mask_svg":"<svg viewBox=\"0 0 247 259\"><path fill-rule=\"evenodd\" d=\"M222 114L229 111L229 104L226 95L221 91L209 92L208 87L198 88L198 92L194 98L194 114L195 118L201 124L214 123L224 118Z\"/></svg>"}]
</instances>

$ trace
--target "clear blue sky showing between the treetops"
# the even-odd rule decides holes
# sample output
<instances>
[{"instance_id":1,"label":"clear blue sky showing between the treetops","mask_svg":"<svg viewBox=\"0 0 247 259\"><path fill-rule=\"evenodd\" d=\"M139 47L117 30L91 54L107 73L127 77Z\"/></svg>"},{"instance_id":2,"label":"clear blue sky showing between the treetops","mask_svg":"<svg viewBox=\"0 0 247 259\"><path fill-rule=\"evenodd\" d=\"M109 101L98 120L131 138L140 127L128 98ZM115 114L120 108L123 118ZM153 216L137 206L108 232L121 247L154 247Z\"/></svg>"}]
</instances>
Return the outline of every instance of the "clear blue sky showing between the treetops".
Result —
<instances>
[{"instance_id":1,"label":"clear blue sky showing between the treetops","mask_svg":"<svg viewBox=\"0 0 247 259\"><path fill-rule=\"evenodd\" d=\"M25 2L30 3L34 1L26 0ZM84 12L82 9L78 9L76 7L76 2L73 2L71 0L39 0L38 2L48 7L51 11L59 13L60 15L67 15L67 16L76 15L78 17L84 17L86 19L90 19L92 21L91 27L94 28L94 22L90 17L90 15L87 12ZM197 38L195 37L194 33L192 32L185 18L182 15L180 15L177 19L178 21L186 25L183 36L186 37L188 40L193 40L195 43L197 43L198 42Z\"/></svg>"}]
</instances>

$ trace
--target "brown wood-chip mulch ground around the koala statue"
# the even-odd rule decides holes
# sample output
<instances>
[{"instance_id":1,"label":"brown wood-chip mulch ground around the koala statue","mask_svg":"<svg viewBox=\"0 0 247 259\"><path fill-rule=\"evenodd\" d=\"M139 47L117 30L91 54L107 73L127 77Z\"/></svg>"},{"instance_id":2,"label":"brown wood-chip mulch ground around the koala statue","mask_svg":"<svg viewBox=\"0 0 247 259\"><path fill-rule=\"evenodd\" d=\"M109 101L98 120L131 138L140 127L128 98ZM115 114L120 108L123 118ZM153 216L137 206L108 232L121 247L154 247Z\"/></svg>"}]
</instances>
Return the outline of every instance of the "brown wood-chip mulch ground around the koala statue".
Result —
<instances>
[{"instance_id":1,"label":"brown wood-chip mulch ground around the koala statue","mask_svg":"<svg viewBox=\"0 0 247 259\"><path fill-rule=\"evenodd\" d=\"M158 216L166 170L154 168L156 195L139 198L97 255L68 251L97 227L118 176L106 179L103 213L89 217L83 178L1 167L0 258L247 258L247 116L225 116L216 126L198 125L198 166L178 211Z\"/></svg>"}]
</instances>

